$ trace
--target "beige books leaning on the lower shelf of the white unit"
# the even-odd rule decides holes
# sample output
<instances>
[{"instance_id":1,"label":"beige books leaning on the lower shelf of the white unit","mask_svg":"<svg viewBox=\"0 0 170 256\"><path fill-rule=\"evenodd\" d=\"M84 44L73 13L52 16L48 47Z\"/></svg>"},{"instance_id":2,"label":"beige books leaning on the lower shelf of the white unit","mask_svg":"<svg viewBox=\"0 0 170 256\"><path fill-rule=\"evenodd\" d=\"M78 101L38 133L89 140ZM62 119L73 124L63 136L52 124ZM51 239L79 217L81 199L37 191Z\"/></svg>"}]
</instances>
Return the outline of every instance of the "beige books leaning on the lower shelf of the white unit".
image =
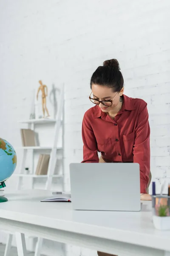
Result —
<instances>
[{"instance_id":1,"label":"beige books leaning on the lower shelf of the white unit","mask_svg":"<svg viewBox=\"0 0 170 256\"><path fill-rule=\"evenodd\" d=\"M50 160L49 154L40 154L39 160L37 163L36 175L47 175L48 172L48 164Z\"/></svg>"}]
</instances>

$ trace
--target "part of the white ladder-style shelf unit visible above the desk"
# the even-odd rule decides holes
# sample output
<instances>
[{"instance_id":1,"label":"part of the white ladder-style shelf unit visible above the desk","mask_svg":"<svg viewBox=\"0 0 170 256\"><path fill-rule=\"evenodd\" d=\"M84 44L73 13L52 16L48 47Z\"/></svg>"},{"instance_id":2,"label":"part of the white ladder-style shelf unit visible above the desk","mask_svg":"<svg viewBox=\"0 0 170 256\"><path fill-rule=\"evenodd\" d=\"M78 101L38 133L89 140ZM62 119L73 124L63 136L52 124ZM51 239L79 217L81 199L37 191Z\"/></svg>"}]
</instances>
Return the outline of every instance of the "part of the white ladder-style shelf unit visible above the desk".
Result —
<instances>
[{"instance_id":1,"label":"part of the white ladder-style shelf unit visible above the desk","mask_svg":"<svg viewBox=\"0 0 170 256\"><path fill-rule=\"evenodd\" d=\"M57 116L56 119L51 119L51 118L41 118L41 119L29 119L29 120L24 120L20 121L22 124L27 124L29 129L32 129L34 131L36 125L45 125L47 123L52 123L54 124L54 142L52 146L32 146L32 147L19 147L20 149L23 150L23 157L20 165L20 171L19 174L16 176L18 177L18 182L17 182L17 189L21 189L22 186L22 181L23 178L28 175L28 177L32 177L32 189L34 188L34 178L46 178L46 183L45 183L45 189L50 189L51 188L51 183L54 177L62 177L62 175L55 175L55 166L57 162L57 153L59 150L63 151L63 147L59 147L58 144L58 137L59 137L59 130L60 127L63 126L63 109L64 109L64 87L61 90L61 95L59 98L59 108L57 111ZM62 128L63 131L63 128ZM63 143L62 143L63 146ZM19 149L18 148L18 149ZM32 166L31 166L31 173L30 174L25 174L25 164L26 164L26 158L27 158L27 153L28 150L31 151L32 154ZM50 151L50 160L49 160L49 165L48 165L48 172L47 175L35 175L34 174L34 151ZM62 157L63 158L63 157Z\"/></svg>"}]
</instances>

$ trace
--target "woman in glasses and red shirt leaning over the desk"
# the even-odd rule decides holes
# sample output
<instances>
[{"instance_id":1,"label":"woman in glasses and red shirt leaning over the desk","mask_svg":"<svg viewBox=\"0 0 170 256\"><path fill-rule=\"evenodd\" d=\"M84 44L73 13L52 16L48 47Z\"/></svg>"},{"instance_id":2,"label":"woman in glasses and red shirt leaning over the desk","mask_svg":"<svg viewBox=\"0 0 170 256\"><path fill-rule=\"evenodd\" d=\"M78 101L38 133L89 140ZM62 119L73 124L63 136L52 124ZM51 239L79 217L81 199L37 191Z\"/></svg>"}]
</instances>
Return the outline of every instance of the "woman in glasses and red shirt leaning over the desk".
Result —
<instances>
[{"instance_id":1,"label":"woman in glasses and red shirt leaning over the desk","mask_svg":"<svg viewBox=\"0 0 170 256\"><path fill-rule=\"evenodd\" d=\"M151 200L147 103L123 94L124 80L116 59L105 61L96 69L91 90L89 99L95 106L85 113L82 122L82 163L139 163L141 199Z\"/></svg>"}]
</instances>

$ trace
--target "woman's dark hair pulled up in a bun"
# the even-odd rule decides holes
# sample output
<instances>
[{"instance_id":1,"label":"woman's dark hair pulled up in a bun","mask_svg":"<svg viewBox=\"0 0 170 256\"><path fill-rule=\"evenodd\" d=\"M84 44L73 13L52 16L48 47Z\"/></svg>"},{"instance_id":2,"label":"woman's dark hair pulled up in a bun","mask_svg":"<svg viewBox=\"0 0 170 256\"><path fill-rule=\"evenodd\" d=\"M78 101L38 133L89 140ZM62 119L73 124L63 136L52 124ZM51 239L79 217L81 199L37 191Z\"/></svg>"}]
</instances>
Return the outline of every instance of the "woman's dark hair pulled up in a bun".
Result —
<instances>
[{"instance_id":1,"label":"woman's dark hair pulled up in a bun","mask_svg":"<svg viewBox=\"0 0 170 256\"><path fill-rule=\"evenodd\" d=\"M114 92L119 92L124 84L122 73L120 72L119 62L111 59L103 62L103 66L99 66L91 77L92 84L113 88Z\"/></svg>"}]
</instances>

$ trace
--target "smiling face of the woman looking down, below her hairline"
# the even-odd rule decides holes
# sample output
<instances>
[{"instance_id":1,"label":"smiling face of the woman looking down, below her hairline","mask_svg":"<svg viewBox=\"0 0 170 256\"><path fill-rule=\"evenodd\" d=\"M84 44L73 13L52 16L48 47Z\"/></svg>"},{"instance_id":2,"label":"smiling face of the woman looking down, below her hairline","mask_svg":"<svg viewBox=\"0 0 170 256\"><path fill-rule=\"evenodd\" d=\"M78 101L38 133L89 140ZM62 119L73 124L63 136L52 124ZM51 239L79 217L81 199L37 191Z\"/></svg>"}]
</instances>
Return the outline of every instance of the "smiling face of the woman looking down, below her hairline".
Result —
<instances>
[{"instance_id":1,"label":"smiling face of the woman looking down, below her hairline","mask_svg":"<svg viewBox=\"0 0 170 256\"><path fill-rule=\"evenodd\" d=\"M103 112L108 112L116 108L116 106L120 102L120 96L122 96L124 92L124 88L120 92L113 92L112 88L108 88L106 86L98 85L98 84L92 84L92 94L91 98L98 99L98 100L113 100L112 105L107 107L103 105L102 103L99 104L99 108Z\"/></svg>"}]
</instances>

